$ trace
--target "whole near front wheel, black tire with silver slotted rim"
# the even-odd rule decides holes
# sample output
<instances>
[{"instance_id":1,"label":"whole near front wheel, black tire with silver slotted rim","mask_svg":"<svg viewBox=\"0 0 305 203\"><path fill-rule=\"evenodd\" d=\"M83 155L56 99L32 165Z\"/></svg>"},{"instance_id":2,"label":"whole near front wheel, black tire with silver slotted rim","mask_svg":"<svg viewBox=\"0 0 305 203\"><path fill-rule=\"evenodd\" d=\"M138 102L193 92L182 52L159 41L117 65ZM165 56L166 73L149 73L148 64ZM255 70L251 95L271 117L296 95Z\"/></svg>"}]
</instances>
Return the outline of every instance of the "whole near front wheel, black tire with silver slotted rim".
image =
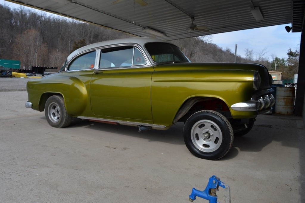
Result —
<instances>
[{"instance_id":1,"label":"whole near front wheel, black tire with silver slotted rim","mask_svg":"<svg viewBox=\"0 0 305 203\"><path fill-rule=\"evenodd\" d=\"M208 160L217 160L226 155L234 138L228 119L211 110L192 114L185 122L183 136L192 154Z\"/></svg>"}]
</instances>

